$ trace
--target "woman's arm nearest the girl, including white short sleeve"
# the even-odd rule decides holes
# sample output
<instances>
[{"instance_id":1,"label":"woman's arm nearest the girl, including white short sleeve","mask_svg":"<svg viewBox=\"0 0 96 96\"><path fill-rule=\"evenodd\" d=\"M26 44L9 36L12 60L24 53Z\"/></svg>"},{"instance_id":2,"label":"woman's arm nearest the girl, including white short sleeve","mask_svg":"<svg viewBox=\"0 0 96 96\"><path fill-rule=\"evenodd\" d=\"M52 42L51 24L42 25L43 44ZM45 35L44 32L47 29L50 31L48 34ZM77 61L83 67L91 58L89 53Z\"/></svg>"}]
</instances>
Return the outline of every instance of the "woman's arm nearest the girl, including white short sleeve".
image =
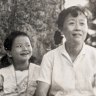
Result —
<instances>
[{"instance_id":1,"label":"woman's arm nearest the girl, including white short sleeve","mask_svg":"<svg viewBox=\"0 0 96 96\"><path fill-rule=\"evenodd\" d=\"M38 85L35 92L36 96L47 96L49 93L51 85L52 69L53 69L52 58L53 58L53 52L50 52L43 56L40 67Z\"/></svg>"}]
</instances>

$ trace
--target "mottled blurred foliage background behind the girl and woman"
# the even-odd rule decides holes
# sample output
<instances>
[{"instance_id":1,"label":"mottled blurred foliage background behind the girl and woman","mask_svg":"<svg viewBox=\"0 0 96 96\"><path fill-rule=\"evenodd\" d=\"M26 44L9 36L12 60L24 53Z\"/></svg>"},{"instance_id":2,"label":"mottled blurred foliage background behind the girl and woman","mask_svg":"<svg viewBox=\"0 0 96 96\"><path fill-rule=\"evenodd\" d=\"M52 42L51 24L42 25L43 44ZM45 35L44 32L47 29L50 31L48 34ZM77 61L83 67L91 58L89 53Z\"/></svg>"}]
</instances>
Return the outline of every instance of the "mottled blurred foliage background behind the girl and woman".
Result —
<instances>
[{"instance_id":1,"label":"mottled blurred foliage background behind the girl and woman","mask_svg":"<svg viewBox=\"0 0 96 96\"><path fill-rule=\"evenodd\" d=\"M93 13L95 21L96 0L88 1L86 7ZM0 55L5 54L3 49L5 36L13 30L20 30L29 34L33 56L36 57L35 63L40 64L42 56L55 48L56 20L64 4L65 0L0 0ZM96 34L96 24L93 21L90 28ZM86 41L90 45L95 40L92 39L95 37L94 34L89 34Z\"/></svg>"}]
</instances>

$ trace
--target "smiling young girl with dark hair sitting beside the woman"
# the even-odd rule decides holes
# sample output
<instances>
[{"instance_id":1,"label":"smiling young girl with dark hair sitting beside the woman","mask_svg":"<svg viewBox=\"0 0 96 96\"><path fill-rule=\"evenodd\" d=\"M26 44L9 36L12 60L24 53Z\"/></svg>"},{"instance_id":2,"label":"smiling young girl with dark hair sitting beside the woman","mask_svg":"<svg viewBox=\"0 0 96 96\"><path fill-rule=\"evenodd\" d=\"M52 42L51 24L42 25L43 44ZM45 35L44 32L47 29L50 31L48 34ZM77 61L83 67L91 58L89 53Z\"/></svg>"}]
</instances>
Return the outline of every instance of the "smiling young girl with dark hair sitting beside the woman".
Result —
<instances>
[{"instance_id":1,"label":"smiling young girl with dark hair sitting beside the woman","mask_svg":"<svg viewBox=\"0 0 96 96\"><path fill-rule=\"evenodd\" d=\"M4 42L7 55L1 59L0 76L4 78L4 96L33 96L39 74L39 66L30 63L32 46L24 32L15 31ZM1 84L2 85L2 84Z\"/></svg>"}]
</instances>

